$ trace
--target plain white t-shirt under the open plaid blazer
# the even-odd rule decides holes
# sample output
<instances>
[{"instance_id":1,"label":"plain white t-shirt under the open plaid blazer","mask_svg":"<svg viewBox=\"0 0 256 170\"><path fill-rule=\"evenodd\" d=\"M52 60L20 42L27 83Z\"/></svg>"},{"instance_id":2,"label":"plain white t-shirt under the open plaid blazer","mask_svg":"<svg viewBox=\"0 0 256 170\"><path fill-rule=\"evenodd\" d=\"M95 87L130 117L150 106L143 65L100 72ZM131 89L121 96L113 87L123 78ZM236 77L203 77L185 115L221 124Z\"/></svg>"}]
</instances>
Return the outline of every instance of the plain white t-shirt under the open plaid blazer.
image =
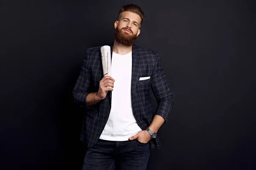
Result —
<instances>
[{"instance_id":1,"label":"plain white t-shirt under the open plaid blazer","mask_svg":"<svg viewBox=\"0 0 256 170\"><path fill-rule=\"evenodd\" d=\"M99 139L127 141L141 131L131 107L131 68L132 52L120 55L113 52L111 75L114 88L111 98L111 111L108 122Z\"/></svg>"}]
</instances>

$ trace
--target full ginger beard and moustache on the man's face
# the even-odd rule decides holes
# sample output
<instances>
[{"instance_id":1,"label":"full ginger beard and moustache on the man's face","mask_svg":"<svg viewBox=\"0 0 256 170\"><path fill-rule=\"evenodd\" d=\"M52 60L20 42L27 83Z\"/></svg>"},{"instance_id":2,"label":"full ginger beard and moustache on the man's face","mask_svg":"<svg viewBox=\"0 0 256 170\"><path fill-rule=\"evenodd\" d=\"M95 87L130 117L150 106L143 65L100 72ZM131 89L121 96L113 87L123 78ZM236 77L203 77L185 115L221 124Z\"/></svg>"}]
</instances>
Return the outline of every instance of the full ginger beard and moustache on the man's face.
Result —
<instances>
[{"instance_id":1,"label":"full ginger beard and moustache on the man's face","mask_svg":"<svg viewBox=\"0 0 256 170\"><path fill-rule=\"evenodd\" d=\"M129 31L131 31L131 29L128 28L121 28L120 30L118 29L118 27L116 27L116 31L114 34L114 38L115 40L125 46L131 46L136 42L136 38L137 38L137 34L133 34L133 31L131 31L131 34L127 34L124 31L122 31L123 29L127 29Z\"/></svg>"}]
</instances>

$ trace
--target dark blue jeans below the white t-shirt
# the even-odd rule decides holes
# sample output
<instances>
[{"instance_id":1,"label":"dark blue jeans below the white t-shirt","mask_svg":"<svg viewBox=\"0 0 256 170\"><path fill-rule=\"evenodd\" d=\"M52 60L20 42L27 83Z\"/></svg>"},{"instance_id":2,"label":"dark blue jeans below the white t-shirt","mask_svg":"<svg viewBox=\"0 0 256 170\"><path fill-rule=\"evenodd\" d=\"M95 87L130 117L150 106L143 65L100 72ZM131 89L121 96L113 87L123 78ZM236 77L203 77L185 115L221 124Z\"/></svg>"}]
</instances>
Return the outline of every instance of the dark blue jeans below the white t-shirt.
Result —
<instances>
[{"instance_id":1,"label":"dark blue jeans below the white t-shirt","mask_svg":"<svg viewBox=\"0 0 256 170\"><path fill-rule=\"evenodd\" d=\"M105 141L99 139L84 156L83 170L146 170L150 146L137 139Z\"/></svg>"}]
</instances>

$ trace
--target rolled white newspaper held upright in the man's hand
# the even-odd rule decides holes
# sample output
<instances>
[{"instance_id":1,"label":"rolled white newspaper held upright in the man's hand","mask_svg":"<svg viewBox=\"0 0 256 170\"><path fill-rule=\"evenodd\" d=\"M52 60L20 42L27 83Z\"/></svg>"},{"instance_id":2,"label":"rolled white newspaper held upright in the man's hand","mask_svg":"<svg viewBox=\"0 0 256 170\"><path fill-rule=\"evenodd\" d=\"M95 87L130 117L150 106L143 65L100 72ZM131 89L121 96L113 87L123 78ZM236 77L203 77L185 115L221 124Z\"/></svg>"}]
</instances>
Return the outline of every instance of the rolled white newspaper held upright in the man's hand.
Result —
<instances>
[{"instance_id":1,"label":"rolled white newspaper held upright in the man's hand","mask_svg":"<svg viewBox=\"0 0 256 170\"><path fill-rule=\"evenodd\" d=\"M100 48L102 54L103 76L111 76L111 51L110 46L104 45Z\"/></svg>"}]
</instances>

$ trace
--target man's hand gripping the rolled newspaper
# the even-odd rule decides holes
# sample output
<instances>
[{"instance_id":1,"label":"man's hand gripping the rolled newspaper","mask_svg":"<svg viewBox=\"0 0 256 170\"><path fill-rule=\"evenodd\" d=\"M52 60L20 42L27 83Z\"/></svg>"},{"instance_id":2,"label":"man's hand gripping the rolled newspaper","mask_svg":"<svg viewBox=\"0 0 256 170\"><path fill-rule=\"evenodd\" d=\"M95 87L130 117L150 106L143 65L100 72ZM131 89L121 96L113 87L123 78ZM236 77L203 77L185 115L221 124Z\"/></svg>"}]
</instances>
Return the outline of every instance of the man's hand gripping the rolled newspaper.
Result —
<instances>
[{"instance_id":1,"label":"man's hand gripping the rolled newspaper","mask_svg":"<svg viewBox=\"0 0 256 170\"><path fill-rule=\"evenodd\" d=\"M105 99L108 91L113 91L115 80L110 76L105 76L99 81L99 91L97 97L99 100Z\"/></svg>"}]
</instances>

